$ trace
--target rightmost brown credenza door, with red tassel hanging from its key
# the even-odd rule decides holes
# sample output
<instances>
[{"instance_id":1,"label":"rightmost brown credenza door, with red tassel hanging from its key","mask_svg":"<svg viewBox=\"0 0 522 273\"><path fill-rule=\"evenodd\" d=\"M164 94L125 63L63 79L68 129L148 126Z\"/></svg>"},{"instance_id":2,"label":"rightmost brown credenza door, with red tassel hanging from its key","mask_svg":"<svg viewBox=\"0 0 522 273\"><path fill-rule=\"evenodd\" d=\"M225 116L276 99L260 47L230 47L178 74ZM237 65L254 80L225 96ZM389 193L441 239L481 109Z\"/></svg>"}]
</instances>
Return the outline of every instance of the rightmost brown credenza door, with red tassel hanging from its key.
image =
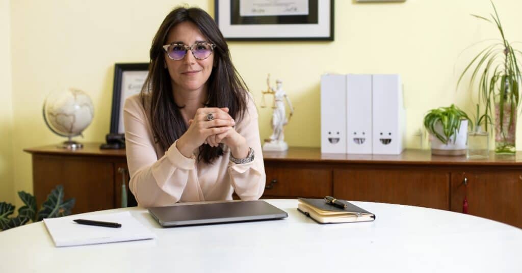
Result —
<instances>
[{"instance_id":1,"label":"rightmost brown credenza door, with red tassel hanging from its key","mask_svg":"<svg viewBox=\"0 0 522 273\"><path fill-rule=\"evenodd\" d=\"M452 172L451 210L522 227L522 170Z\"/></svg>"}]
</instances>

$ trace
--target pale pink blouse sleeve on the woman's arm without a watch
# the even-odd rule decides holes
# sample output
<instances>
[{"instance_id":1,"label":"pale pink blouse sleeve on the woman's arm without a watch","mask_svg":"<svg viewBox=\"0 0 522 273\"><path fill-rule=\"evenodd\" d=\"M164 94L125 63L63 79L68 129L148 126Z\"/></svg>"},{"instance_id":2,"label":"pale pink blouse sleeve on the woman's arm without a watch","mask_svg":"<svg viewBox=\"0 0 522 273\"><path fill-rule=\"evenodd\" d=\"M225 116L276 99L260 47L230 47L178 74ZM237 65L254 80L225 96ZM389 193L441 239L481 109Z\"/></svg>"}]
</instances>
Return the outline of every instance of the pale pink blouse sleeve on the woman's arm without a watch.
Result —
<instances>
[{"instance_id":1,"label":"pale pink blouse sleeve on the woman's arm without a watch","mask_svg":"<svg viewBox=\"0 0 522 273\"><path fill-rule=\"evenodd\" d=\"M166 206L180 200L189 179L193 177L195 157L184 157L176 143L158 159L147 115L139 97L125 101L123 121L125 146L131 181L129 188L140 206Z\"/></svg>"}]
</instances>

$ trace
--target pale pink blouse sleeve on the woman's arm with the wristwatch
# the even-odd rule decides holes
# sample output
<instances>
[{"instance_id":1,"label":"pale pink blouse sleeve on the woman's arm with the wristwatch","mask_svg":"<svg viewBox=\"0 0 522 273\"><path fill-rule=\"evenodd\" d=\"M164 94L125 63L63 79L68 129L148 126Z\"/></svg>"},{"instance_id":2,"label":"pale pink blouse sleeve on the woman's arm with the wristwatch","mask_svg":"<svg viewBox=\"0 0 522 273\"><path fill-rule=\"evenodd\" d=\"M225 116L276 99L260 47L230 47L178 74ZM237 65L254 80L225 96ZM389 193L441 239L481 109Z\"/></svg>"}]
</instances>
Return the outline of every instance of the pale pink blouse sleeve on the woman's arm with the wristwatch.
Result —
<instances>
[{"instance_id":1,"label":"pale pink blouse sleeve on the woman's arm with the wristwatch","mask_svg":"<svg viewBox=\"0 0 522 273\"><path fill-rule=\"evenodd\" d=\"M247 96L247 111L236 130L254 150L254 160L244 164L229 161L229 175L232 187L241 200L259 199L265 191L266 174L263 151L259 138L257 109L252 97Z\"/></svg>"}]
</instances>

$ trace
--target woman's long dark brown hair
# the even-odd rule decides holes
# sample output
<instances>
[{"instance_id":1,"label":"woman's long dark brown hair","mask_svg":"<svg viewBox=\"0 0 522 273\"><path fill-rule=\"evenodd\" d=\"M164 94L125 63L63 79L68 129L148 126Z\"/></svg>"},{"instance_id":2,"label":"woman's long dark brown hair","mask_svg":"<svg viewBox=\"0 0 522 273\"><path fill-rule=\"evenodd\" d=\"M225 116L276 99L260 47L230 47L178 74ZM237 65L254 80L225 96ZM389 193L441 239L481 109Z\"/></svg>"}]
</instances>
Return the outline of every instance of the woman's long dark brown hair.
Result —
<instances>
[{"instance_id":1,"label":"woman's long dark brown hair","mask_svg":"<svg viewBox=\"0 0 522 273\"><path fill-rule=\"evenodd\" d=\"M216 22L203 9L179 7L165 17L150 47L149 74L141 90L141 101L145 109L149 109L150 124L155 141L167 151L175 140L187 130L180 109L184 105L176 105L172 93L171 78L168 69L164 68L164 51L169 30L181 22L192 22L199 31L216 45L214 49L214 67L207 80L208 100L206 106L228 107L229 114L235 121L241 120L246 110L246 85L234 68L230 52L223 34ZM175 92L176 90L174 90ZM150 98L146 98L150 96ZM150 103L150 108L147 107ZM211 163L223 155L223 145L199 147L198 160Z\"/></svg>"}]
</instances>

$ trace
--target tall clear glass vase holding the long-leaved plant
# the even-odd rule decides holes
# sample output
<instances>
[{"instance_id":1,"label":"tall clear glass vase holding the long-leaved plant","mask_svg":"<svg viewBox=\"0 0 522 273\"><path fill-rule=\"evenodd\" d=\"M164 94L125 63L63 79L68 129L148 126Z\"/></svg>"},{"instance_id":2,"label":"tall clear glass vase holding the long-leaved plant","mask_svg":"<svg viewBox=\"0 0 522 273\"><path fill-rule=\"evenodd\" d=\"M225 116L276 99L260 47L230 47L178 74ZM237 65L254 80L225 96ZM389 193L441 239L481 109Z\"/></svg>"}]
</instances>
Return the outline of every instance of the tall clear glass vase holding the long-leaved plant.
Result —
<instances>
[{"instance_id":1,"label":"tall clear glass vase holding the long-leaved plant","mask_svg":"<svg viewBox=\"0 0 522 273\"><path fill-rule=\"evenodd\" d=\"M501 120L500 105L495 103L495 153L514 155L516 152L517 108L514 105L512 109L511 104L509 101L504 103Z\"/></svg>"}]
</instances>

